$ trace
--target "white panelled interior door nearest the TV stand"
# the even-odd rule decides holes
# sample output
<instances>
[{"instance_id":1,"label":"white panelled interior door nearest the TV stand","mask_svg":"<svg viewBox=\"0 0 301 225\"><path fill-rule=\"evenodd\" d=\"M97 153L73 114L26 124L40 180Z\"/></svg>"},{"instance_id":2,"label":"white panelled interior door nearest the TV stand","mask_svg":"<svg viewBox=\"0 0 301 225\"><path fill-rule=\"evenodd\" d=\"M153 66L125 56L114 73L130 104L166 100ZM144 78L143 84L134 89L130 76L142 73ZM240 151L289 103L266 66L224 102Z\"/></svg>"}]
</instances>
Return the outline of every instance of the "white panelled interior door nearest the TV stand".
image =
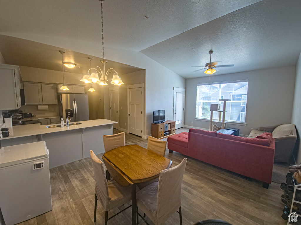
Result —
<instances>
[{"instance_id":1,"label":"white panelled interior door nearest the TV stand","mask_svg":"<svg viewBox=\"0 0 301 225\"><path fill-rule=\"evenodd\" d=\"M143 88L128 89L129 133L142 137Z\"/></svg>"}]
</instances>

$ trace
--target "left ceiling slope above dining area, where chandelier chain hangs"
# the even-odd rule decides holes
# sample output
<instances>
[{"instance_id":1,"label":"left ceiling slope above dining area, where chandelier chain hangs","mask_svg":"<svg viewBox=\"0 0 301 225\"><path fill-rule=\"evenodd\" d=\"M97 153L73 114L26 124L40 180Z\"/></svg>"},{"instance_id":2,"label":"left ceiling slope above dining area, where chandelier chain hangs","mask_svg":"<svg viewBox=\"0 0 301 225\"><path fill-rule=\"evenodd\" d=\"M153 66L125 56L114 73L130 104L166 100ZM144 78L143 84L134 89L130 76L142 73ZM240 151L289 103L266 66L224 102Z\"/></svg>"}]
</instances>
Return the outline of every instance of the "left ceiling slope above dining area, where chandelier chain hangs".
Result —
<instances>
[{"instance_id":1,"label":"left ceiling slope above dining area, where chandelier chain hangs","mask_svg":"<svg viewBox=\"0 0 301 225\"><path fill-rule=\"evenodd\" d=\"M260 0L106 0L106 46L140 51ZM1 0L0 32L101 43L98 0ZM149 16L145 19L145 16Z\"/></svg>"}]
</instances>

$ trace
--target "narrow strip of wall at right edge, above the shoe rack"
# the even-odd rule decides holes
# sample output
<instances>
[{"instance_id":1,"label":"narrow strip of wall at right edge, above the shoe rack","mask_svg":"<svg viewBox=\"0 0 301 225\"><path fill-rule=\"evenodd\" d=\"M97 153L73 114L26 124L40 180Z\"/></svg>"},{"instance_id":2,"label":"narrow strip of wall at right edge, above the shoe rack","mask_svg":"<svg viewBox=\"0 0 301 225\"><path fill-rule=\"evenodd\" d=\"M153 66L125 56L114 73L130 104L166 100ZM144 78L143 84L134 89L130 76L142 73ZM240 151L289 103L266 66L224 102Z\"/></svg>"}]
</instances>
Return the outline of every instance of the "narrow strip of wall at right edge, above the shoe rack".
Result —
<instances>
[{"instance_id":1,"label":"narrow strip of wall at right edge, above the shoe rack","mask_svg":"<svg viewBox=\"0 0 301 225\"><path fill-rule=\"evenodd\" d=\"M301 53L296 65L296 85L293 104L292 124L296 125L297 142L295 146L295 154L297 155L296 164L301 161L301 146L300 146L300 132L301 132Z\"/></svg>"}]
</instances>

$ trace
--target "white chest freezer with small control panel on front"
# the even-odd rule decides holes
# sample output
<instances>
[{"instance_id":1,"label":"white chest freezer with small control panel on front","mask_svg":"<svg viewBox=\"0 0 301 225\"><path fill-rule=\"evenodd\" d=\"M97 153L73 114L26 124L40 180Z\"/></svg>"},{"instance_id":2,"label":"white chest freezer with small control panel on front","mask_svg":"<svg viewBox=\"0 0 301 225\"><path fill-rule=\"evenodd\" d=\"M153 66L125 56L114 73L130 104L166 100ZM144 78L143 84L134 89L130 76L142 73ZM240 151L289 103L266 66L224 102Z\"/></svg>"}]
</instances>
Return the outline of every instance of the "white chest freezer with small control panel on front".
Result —
<instances>
[{"instance_id":1,"label":"white chest freezer with small control panel on front","mask_svg":"<svg viewBox=\"0 0 301 225\"><path fill-rule=\"evenodd\" d=\"M52 209L45 141L0 149L0 208L6 225Z\"/></svg>"}]
</instances>

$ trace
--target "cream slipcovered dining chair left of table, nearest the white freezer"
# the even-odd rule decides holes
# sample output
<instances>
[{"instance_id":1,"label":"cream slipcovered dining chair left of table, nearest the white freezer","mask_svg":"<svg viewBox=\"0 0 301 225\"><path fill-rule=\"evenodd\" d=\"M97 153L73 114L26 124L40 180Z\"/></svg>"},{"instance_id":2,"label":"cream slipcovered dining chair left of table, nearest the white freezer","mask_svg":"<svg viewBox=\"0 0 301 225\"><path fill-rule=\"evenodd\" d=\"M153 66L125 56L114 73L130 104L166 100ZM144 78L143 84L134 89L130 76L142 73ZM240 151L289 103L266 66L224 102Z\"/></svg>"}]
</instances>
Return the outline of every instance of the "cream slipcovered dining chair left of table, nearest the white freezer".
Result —
<instances>
[{"instance_id":1,"label":"cream slipcovered dining chair left of table, nearest the white freezer","mask_svg":"<svg viewBox=\"0 0 301 225\"><path fill-rule=\"evenodd\" d=\"M90 155L92 158L92 165L95 179L95 205L94 205L94 222L96 222L96 208L97 200L100 201L101 205L105 210L104 224L107 225L108 220L119 214L120 212L131 207L123 209L112 217L108 218L108 211L113 208L119 207L132 199L132 187L122 187L113 179L107 181L104 174L104 164L97 158L94 152L91 150Z\"/></svg>"}]
</instances>

